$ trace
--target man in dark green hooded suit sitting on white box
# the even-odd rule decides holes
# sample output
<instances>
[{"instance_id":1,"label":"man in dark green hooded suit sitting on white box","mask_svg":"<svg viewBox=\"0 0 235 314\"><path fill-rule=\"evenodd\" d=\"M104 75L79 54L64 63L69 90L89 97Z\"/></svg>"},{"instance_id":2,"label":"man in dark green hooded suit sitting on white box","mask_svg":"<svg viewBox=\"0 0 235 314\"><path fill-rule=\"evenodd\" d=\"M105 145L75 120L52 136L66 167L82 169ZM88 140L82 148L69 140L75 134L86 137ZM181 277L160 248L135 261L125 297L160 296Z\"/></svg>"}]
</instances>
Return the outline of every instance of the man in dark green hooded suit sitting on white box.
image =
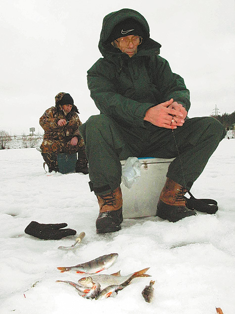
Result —
<instances>
[{"instance_id":1,"label":"man in dark green hooded suit sitting on white box","mask_svg":"<svg viewBox=\"0 0 235 314\"><path fill-rule=\"evenodd\" d=\"M121 9L104 17L98 44L103 58L88 70L88 87L100 115L79 127L90 188L99 204L97 233L121 229L120 160L130 156L176 157L156 215L173 222L196 215L183 196L225 136L214 118L187 118L189 91L159 56L160 47L150 39L148 23L139 12Z\"/></svg>"}]
</instances>

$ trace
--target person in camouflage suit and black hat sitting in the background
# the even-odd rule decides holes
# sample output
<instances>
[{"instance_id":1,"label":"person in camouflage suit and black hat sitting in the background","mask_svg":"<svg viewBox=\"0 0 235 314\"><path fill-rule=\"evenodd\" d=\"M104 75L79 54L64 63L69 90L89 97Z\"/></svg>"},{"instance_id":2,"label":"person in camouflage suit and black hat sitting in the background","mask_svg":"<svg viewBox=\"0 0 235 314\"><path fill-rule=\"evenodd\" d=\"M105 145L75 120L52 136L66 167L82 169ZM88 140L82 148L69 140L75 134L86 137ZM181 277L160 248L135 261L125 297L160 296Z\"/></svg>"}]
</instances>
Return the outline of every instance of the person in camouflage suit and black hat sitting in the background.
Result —
<instances>
[{"instance_id":1,"label":"person in camouflage suit and black hat sitting in the background","mask_svg":"<svg viewBox=\"0 0 235 314\"><path fill-rule=\"evenodd\" d=\"M40 148L49 172L59 171L59 153L78 153L75 171L84 174L89 172L84 140L78 130L82 125L78 113L70 94L60 92L55 96L55 106L47 109L39 120L44 129Z\"/></svg>"}]
</instances>

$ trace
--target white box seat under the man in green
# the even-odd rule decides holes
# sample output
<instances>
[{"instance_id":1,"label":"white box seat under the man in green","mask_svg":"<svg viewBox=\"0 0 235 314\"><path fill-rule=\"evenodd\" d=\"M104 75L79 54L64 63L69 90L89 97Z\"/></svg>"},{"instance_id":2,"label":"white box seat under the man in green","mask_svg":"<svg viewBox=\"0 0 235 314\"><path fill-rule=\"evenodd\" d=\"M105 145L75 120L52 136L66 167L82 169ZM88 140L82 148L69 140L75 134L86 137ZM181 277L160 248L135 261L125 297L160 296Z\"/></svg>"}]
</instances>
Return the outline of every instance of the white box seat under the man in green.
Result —
<instances>
[{"instance_id":1,"label":"white box seat under the man in green","mask_svg":"<svg viewBox=\"0 0 235 314\"><path fill-rule=\"evenodd\" d=\"M166 182L166 174L170 163L174 160L163 158L138 158L141 162L141 177L131 187L123 182L123 218L155 216L157 202ZM122 167L125 160L121 161Z\"/></svg>"}]
</instances>

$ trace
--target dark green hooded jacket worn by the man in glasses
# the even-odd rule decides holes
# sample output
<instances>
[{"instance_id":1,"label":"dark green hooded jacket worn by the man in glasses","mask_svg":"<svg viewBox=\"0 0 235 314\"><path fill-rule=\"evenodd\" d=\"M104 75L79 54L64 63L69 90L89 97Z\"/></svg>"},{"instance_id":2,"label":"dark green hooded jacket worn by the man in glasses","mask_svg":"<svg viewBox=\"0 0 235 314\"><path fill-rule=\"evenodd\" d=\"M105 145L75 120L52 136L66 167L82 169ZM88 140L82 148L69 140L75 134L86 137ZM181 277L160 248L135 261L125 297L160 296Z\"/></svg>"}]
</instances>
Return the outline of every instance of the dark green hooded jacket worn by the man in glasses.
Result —
<instances>
[{"instance_id":1,"label":"dark green hooded jacket worn by the man in glasses","mask_svg":"<svg viewBox=\"0 0 235 314\"><path fill-rule=\"evenodd\" d=\"M115 25L133 18L141 23L146 36L132 58L107 41ZM138 35L138 34L137 34ZM100 58L88 70L88 87L100 114L120 125L145 127L146 111L173 98L188 111L189 91L184 79L171 71L159 56L161 45L149 37L146 19L132 9L109 13L103 19L98 48Z\"/></svg>"}]
</instances>

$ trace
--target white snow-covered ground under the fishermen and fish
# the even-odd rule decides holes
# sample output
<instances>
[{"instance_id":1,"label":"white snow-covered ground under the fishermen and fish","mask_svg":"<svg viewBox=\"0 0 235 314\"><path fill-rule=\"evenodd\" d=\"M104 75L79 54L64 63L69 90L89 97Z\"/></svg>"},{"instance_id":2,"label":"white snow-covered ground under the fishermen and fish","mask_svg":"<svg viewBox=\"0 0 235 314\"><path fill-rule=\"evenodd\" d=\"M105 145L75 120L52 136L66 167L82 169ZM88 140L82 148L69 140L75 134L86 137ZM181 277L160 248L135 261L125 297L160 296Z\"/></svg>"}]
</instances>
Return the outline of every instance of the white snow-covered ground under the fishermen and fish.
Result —
<instances>
[{"instance_id":1,"label":"white snow-covered ground under the fishermen and fish","mask_svg":"<svg viewBox=\"0 0 235 314\"><path fill-rule=\"evenodd\" d=\"M235 139L224 139L191 192L219 203L215 215L199 213L176 223L157 217L125 219L122 230L95 233L96 197L89 176L48 176L36 148L0 151L0 314L65 313L235 313ZM66 222L86 237L77 250L76 236L40 240L24 233L32 221ZM142 268L151 277L136 278L116 298L86 300L56 280L77 282L82 276L61 273L100 255L118 253L103 273L122 275ZM141 291L155 280L154 299L148 304Z\"/></svg>"}]
</instances>

